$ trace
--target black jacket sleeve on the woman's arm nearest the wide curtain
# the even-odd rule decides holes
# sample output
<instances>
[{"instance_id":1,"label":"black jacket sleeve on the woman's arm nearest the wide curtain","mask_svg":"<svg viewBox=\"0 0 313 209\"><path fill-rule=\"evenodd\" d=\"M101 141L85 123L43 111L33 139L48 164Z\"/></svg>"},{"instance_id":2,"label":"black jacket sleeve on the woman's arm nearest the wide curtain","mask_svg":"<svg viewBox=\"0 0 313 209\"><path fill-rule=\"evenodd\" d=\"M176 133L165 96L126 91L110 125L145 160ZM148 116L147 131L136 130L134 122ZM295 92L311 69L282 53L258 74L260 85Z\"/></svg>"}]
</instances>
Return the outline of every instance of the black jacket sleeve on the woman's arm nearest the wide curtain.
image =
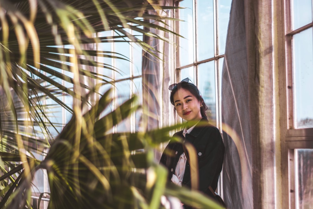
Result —
<instances>
[{"instance_id":1,"label":"black jacket sleeve on the woman's arm nearest the wide curtain","mask_svg":"<svg viewBox=\"0 0 313 209\"><path fill-rule=\"evenodd\" d=\"M207 141L206 145L197 144L197 140L195 140L195 148L198 154L199 190L205 192L210 185L215 190L223 167L225 151L221 134L217 128L210 127L201 138ZM190 187L190 178L188 180L186 185Z\"/></svg>"}]
</instances>

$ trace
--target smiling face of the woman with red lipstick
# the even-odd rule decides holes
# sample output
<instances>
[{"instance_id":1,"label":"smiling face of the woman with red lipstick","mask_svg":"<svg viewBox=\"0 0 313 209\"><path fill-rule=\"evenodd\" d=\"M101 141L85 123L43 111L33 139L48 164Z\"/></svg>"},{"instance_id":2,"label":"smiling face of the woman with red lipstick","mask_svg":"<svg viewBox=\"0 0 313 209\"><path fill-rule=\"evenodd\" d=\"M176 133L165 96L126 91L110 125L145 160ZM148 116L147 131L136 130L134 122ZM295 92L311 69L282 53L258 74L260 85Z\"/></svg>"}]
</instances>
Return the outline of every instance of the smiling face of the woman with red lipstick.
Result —
<instances>
[{"instance_id":1,"label":"smiling face of the woman with red lipstick","mask_svg":"<svg viewBox=\"0 0 313 209\"><path fill-rule=\"evenodd\" d=\"M200 101L190 91L179 88L173 95L177 114L184 120L200 120Z\"/></svg>"}]
</instances>

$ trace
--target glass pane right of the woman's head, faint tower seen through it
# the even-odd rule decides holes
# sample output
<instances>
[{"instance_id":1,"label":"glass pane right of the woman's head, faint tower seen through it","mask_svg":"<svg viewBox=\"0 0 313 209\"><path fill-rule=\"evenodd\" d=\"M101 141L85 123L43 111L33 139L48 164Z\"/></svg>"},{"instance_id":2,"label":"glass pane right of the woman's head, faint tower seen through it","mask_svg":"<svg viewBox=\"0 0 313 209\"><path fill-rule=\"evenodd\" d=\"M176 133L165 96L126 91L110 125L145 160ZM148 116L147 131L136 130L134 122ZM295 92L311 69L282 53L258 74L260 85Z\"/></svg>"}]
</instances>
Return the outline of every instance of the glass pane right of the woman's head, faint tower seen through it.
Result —
<instances>
[{"instance_id":1,"label":"glass pane right of the woman's head, faint tower seen through it","mask_svg":"<svg viewBox=\"0 0 313 209\"><path fill-rule=\"evenodd\" d=\"M198 88L208 106L209 121L216 122L214 61L198 65Z\"/></svg>"}]
</instances>

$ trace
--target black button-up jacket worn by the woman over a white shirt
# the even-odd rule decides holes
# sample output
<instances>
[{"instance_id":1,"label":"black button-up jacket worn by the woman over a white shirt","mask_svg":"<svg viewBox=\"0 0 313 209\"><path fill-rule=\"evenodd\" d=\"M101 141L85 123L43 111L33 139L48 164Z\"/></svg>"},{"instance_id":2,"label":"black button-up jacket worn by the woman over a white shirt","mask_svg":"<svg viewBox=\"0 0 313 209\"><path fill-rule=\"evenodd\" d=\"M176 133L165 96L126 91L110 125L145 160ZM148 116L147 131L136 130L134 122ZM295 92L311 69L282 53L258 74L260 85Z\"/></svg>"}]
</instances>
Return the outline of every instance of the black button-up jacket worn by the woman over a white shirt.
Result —
<instances>
[{"instance_id":1,"label":"black button-up jacket worn by the woman over a white shirt","mask_svg":"<svg viewBox=\"0 0 313 209\"><path fill-rule=\"evenodd\" d=\"M224 144L219 130L206 123L207 119L201 120L202 124L197 124L196 127L188 134L186 133L186 140L189 141L197 150L198 154L198 168L199 168L199 190L205 194L213 197L208 187L211 185L213 190L216 190L218 184L218 177L223 167L224 159ZM184 139L182 135L183 131L179 131L173 135L173 137L180 137ZM165 165L168 170L167 180L171 182L172 175L175 172L177 162L180 155L184 152L182 144L171 140L165 148L160 163ZM191 187L190 182L190 166L188 161L186 162L186 168L182 185Z\"/></svg>"}]
</instances>

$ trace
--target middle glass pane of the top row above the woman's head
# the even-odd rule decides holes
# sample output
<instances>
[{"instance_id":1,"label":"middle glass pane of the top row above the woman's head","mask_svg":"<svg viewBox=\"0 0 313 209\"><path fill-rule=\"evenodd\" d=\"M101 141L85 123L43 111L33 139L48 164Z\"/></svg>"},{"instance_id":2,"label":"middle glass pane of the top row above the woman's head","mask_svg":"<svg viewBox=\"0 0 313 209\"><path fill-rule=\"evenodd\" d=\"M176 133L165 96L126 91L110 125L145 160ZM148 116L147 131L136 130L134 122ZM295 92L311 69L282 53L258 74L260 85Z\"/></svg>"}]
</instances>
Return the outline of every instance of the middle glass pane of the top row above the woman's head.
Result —
<instances>
[{"instance_id":1,"label":"middle glass pane of the top row above the woman's head","mask_svg":"<svg viewBox=\"0 0 313 209\"><path fill-rule=\"evenodd\" d=\"M200 61L214 57L214 15L213 1L198 1L197 3L197 61Z\"/></svg>"}]
</instances>

